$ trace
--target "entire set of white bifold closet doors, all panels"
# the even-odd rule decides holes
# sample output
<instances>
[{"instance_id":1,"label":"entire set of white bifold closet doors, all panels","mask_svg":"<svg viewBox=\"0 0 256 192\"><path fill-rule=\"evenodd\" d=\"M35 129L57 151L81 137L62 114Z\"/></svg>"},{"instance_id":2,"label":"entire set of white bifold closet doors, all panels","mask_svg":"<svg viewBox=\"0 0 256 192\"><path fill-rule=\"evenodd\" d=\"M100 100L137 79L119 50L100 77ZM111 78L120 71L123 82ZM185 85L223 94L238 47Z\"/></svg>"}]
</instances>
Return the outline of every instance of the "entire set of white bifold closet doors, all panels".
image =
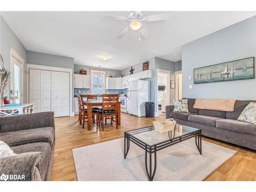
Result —
<instances>
[{"instance_id":1,"label":"entire set of white bifold closet doors, all panels","mask_svg":"<svg viewBox=\"0 0 256 192\"><path fill-rule=\"evenodd\" d=\"M53 111L69 116L70 77L67 72L29 70L29 102L35 112Z\"/></svg>"}]
</instances>

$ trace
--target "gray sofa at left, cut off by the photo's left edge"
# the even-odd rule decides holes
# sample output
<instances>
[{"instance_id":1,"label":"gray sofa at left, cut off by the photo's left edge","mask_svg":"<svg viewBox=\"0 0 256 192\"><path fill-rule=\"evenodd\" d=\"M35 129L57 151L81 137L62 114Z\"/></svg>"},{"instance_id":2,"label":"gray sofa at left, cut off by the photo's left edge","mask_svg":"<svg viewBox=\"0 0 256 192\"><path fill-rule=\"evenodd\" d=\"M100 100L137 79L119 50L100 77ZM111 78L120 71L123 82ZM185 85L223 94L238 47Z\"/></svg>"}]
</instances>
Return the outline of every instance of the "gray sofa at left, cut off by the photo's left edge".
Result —
<instances>
[{"instance_id":1,"label":"gray sofa at left, cut off by the photo's left edge","mask_svg":"<svg viewBox=\"0 0 256 192\"><path fill-rule=\"evenodd\" d=\"M0 159L0 175L25 175L26 181L51 179L55 144L53 112L0 117L0 140L17 154Z\"/></svg>"}]
</instances>

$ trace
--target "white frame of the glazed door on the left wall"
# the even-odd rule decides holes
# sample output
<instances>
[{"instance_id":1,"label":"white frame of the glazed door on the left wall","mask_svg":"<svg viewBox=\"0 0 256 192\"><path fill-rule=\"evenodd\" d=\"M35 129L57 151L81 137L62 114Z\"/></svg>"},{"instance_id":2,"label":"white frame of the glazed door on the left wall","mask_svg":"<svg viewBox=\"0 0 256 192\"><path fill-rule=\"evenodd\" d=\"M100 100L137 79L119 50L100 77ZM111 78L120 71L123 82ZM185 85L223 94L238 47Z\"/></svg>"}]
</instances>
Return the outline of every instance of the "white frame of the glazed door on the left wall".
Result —
<instances>
[{"instance_id":1,"label":"white frame of the glazed door on the left wall","mask_svg":"<svg viewBox=\"0 0 256 192\"><path fill-rule=\"evenodd\" d=\"M22 63L21 69L20 69L20 99L19 102L23 103L23 97L24 97L24 73L23 73L23 69L24 69L24 64L26 63L25 59L20 56L13 48L10 48L10 72L11 72L11 82L10 82L10 89L9 89L9 97L10 97L10 90L13 90L14 88L14 76L13 76L13 69L14 66L12 65L12 59L13 57L15 59L17 59L20 63Z\"/></svg>"}]
</instances>

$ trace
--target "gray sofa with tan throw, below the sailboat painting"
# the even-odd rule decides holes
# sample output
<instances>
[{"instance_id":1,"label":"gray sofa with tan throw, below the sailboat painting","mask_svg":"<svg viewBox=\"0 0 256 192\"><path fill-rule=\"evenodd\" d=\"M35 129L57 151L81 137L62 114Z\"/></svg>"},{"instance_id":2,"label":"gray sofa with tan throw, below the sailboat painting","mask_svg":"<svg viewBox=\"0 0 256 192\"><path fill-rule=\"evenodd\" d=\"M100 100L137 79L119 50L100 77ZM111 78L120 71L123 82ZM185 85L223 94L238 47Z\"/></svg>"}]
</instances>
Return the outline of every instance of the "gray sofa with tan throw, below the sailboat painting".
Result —
<instances>
[{"instance_id":1,"label":"gray sofa with tan throw, below the sailboat painting","mask_svg":"<svg viewBox=\"0 0 256 192\"><path fill-rule=\"evenodd\" d=\"M196 127L202 135L256 150L256 125L238 121L239 115L253 100L237 100L233 112L194 109L196 99L188 99L189 113L174 112L174 105L165 108L166 119Z\"/></svg>"}]
</instances>

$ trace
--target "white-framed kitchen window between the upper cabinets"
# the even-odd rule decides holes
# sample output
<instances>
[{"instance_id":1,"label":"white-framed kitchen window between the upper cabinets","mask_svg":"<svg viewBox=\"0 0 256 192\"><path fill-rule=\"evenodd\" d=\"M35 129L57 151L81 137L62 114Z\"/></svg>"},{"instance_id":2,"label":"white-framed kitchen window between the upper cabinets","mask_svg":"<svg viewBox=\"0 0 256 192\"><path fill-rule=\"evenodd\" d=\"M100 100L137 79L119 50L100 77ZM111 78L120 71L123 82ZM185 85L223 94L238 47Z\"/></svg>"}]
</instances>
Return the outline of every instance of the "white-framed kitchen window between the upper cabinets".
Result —
<instances>
[{"instance_id":1,"label":"white-framed kitchen window between the upper cabinets","mask_svg":"<svg viewBox=\"0 0 256 192\"><path fill-rule=\"evenodd\" d=\"M91 70L91 93L103 94L105 93L105 72Z\"/></svg>"}]
</instances>

